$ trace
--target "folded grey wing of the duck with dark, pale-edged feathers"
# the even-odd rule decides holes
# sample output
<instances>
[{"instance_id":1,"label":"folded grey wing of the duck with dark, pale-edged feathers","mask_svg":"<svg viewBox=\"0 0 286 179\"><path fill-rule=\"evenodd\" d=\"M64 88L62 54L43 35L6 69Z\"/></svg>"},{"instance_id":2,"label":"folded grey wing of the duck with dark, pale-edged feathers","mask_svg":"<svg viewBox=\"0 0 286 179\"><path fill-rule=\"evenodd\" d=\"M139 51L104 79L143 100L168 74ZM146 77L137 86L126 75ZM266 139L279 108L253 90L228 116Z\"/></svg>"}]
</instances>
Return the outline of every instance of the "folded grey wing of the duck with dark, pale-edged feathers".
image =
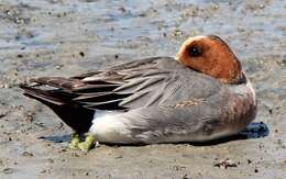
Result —
<instances>
[{"instance_id":1,"label":"folded grey wing of the duck with dark, pale-edged feathers","mask_svg":"<svg viewBox=\"0 0 286 179\"><path fill-rule=\"evenodd\" d=\"M50 100L100 110L176 105L184 100L210 97L221 88L211 77L169 57L142 59L72 78L42 77L31 81L36 83L35 89L55 88Z\"/></svg>"}]
</instances>

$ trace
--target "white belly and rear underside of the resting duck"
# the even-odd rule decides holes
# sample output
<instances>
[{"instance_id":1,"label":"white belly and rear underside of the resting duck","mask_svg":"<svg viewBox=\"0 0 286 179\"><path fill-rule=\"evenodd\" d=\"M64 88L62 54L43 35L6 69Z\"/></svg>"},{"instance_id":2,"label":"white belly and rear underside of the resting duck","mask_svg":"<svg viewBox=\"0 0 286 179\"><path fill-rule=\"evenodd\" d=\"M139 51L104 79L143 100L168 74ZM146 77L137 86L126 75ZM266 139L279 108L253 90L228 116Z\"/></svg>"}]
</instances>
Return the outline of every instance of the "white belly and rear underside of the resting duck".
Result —
<instances>
[{"instance_id":1,"label":"white belly and rear underside of the resting duck","mask_svg":"<svg viewBox=\"0 0 286 179\"><path fill-rule=\"evenodd\" d=\"M136 128L136 123L146 125L143 128L148 128L147 123L141 119L132 115L130 112L117 112L117 111L99 111L97 110L92 125L89 128L89 133L96 136L98 142L101 143L119 143L119 144L134 144L134 143L177 143L177 142L205 142L222 136L228 136L235 134L237 132L224 128L220 132L213 133L211 135L202 134L201 131L187 133L182 135L182 133L176 133L174 131L173 135L165 136L164 130L160 131L144 131L142 133L136 133L132 135L132 128ZM172 130L172 128L169 128ZM154 134L154 135L153 135ZM152 138L157 136L157 138ZM153 141L154 139L154 141Z\"/></svg>"}]
</instances>

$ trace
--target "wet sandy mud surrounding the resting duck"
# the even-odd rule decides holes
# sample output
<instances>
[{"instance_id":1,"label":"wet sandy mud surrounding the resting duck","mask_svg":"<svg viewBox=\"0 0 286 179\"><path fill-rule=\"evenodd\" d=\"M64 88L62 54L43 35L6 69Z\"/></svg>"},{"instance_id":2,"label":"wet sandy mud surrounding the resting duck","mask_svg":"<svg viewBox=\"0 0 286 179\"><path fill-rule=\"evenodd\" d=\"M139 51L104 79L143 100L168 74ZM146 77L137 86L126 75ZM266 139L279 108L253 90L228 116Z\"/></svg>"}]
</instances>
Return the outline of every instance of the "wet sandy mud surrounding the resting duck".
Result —
<instances>
[{"instance_id":1,"label":"wet sandy mud surrounding the resting duck","mask_svg":"<svg viewBox=\"0 0 286 179\"><path fill-rule=\"evenodd\" d=\"M286 178L285 0L1 0L0 178ZM33 76L72 76L136 58L174 56L216 34L243 63L268 136L216 145L69 149L72 131L24 98ZM232 167L215 165L229 158Z\"/></svg>"}]
</instances>

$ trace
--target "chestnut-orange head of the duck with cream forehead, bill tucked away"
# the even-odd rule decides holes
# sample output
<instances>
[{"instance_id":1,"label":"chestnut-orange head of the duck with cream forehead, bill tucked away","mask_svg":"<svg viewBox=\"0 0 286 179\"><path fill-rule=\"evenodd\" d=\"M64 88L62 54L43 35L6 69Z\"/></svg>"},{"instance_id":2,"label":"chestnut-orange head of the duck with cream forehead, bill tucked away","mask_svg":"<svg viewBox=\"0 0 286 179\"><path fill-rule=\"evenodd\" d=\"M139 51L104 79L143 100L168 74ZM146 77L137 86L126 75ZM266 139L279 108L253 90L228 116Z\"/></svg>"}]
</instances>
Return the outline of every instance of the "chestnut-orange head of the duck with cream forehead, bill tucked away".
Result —
<instances>
[{"instance_id":1,"label":"chestnut-orange head of the duck with cream forehead, bill tucked away","mask_svg":"<svg viewBox=\"0 0 286 179\"><path fill-rule=\"evenodd\" d=\"M237 56L226 42L215 35L189 37L180 46L176 59L226 83L237 82L243 76Z\"/></svg>"}]
</instances>

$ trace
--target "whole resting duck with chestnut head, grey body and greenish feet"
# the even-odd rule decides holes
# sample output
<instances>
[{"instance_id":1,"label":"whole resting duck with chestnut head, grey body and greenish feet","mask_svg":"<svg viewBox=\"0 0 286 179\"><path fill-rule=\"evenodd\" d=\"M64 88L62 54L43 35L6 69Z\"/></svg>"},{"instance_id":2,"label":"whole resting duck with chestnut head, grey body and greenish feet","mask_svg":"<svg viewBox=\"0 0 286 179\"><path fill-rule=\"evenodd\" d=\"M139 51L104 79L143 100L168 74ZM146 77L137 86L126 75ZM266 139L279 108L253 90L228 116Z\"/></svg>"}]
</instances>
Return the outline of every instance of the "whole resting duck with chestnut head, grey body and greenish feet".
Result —
<instances>
[{"instance_id":1,"label":"whole resting duck with chestnut head, grey body and greenish feet","mask_svg":"<svg viewBox=\"0 0 286 179\"><path fill-rule=\"evenodd\" d=\"M23 94L74 130L69 147L209 142L235 135L256 116L241 61L216 35L187 38L157 56L69 78L37 77Z\"/></svg>"}]
</instances>

